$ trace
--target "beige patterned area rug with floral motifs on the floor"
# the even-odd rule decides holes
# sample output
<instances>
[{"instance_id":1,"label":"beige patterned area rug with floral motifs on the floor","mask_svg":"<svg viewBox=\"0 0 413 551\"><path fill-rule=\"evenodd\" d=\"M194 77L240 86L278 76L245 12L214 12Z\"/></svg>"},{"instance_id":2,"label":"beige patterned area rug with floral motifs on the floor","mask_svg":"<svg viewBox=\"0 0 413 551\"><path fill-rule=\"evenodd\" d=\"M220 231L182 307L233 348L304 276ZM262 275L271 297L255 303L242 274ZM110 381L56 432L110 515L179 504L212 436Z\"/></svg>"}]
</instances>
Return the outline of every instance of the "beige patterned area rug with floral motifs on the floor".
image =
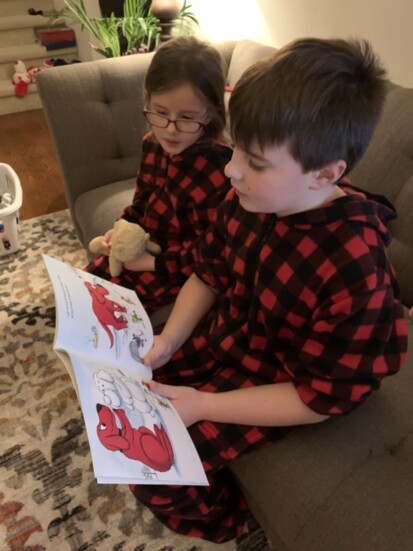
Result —
<instances>
[{"instance_id":1,"label":"beige patterned area rug with floral motifs on the floor","mask_svg":"<svg viewBox=\"0 0 413 551\"><path fill-rule=\"evenodd\" d=\"M12 551L267 551L254 519L214 545L176 535L127 486L96 483L79 404L52 351L54 297L41 254L86 255L67 210L22 223L0 257L0 548Z\"/></svg>"}]
</instances>

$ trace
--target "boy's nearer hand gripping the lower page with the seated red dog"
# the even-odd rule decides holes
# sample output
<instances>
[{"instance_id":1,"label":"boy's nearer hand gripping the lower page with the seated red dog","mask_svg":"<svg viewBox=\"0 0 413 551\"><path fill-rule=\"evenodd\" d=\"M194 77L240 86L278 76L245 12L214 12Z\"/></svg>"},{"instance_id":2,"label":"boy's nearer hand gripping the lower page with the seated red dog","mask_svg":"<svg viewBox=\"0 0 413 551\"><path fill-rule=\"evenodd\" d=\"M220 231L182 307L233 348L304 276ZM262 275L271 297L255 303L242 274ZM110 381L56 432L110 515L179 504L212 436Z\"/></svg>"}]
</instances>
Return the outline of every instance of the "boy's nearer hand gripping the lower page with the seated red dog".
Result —
<instances>
[{"instance_id":1,"label":"boy's nearer hand gripping the lower page with the seated red dog","mask_svg":"<svg viewBox=\"0 0 413 551\"><path fill-rule=\"evenodd\" d=\"M189 386L164 385L156 381L149 381L148 384L152 392L171 400L186 427L203 421L203 406L208 393Z\"/></svg>"}]
</instances>

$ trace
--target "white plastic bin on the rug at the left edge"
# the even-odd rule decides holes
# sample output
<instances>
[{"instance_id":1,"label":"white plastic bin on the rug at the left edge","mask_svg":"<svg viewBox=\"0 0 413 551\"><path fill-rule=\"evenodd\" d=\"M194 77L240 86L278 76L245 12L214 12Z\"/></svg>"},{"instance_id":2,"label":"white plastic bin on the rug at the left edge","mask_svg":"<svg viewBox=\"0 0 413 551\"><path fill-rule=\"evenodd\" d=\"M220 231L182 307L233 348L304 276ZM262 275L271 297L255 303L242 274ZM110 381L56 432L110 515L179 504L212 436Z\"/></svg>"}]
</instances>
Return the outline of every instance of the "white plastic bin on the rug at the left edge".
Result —
<instances>
[{"instance_id":1,"label":"white plastic bin on the rug at the left edge","mask_svg":"<svg viewBox=\"0 0 413 551\"><path fill-rule=\"evenodd\" d=\"M0 256L19 250L19 208L23 203L23 192L17 174L10 165L0 163L0 197L5 193L10 194L12 202L0 208Z\"/></svg>"}]
</instances>

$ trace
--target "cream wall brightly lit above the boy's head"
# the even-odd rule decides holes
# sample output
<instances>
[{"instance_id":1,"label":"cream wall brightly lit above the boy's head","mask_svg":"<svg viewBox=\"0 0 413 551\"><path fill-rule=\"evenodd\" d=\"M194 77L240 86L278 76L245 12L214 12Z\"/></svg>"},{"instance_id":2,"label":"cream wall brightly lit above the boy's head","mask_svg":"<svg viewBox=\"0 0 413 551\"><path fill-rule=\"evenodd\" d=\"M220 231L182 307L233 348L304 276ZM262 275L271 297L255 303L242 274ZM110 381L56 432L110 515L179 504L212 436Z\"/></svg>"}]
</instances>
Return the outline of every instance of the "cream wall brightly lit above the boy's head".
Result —
<instances>
[{"instance_id":1,"label":"cream wall brightly lit above the boy's head","mask_svg":"<svg viewBox=\"0 0 413 551\"><path fill-rule=\"evenodd\" d=\"M303 36L368 39L391 80L413 87L411 0L191 0L201 36L282 46Z\"/></svg>"}]
</instances>

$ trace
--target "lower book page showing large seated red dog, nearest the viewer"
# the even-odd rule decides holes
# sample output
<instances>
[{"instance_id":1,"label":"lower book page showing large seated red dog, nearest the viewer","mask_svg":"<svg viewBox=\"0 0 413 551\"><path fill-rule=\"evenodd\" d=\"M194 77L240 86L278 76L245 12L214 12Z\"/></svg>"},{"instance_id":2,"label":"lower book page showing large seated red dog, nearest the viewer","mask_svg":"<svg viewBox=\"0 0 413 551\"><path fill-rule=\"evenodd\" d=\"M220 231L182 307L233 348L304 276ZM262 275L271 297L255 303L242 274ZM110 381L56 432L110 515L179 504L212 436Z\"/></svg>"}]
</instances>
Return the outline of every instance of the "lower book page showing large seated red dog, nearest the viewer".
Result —
<instances>
[{"instance_id":1,"label":"lower book page showing large seated red dog, nearest the viewer","mask_svg":"<svg viewBox=\"0 0 413 551\"><path fill-rule=\"evenodd\" d=\"M100 483L207 485L191 437L166 398L127 369L70 353Z\"/></svg>"}]
</instances>

